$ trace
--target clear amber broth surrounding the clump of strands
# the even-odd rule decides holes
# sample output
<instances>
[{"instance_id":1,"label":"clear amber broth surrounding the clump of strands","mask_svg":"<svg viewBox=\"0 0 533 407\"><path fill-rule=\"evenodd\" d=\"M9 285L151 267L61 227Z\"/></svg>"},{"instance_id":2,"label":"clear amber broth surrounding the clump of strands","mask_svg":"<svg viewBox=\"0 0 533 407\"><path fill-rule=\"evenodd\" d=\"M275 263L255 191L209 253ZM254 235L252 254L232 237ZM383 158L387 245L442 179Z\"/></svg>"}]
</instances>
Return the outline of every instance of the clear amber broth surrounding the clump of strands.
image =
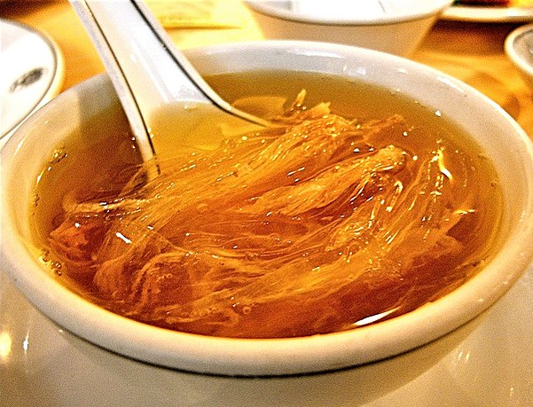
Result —
<instances>
[{"instance_id":1,"label":"clear amber broth surrounding the clump of strands","mask_svg":"<svg viewBox=\"0 0 533 407\"><path fill-rule=\"evenodd\" d=\"M372 281L372 276L365 275L357 284L341 290L339 298L305 311L310 315L310 320L330 318L323 316L325 310L341 316L332 317L334 321L331 326L325 323L317 329L313 324L302 323L299 317L302 313L300 300L293 303L278 301L257 311L245 309L246 312L241 312L243 323L237 330L216 331L210 326L153 322L145 320L143 316L129 315L128 311L122 309L123 300L114 304L113 298L102 298L98 294L91 278L69 273L47 243L50 232L63 219L62 202L68 200L66 197L69 194L74 191L78 200L98 200L100 196L118 194L137 170L136 164L140 159L133 137L120 107L114 106L114 109L88 122L82 129L82 138L75 135L67 139L64 145L58 146L36 185L33 216L36 239L44 247L43 262L48 263L52 272L75 292L107 309L169 329L230 337L304 336L354 328L409 312L457 288L490 259L495 250L494 242L502 210L498 176L480 147L438 110L422 106L396 90L385 90L324 74L250 72L214 75L207 80L230 102L259 95L286 98L290 103L300 90L306 89L307 106L331 101L333 113L357 118L358 121L384 119L396 113L403 115L409 126L401 131L389 132L380 141L380 147L394 144L416 156L420 148L443 145L446 168L451 174L456 171L456 165L461 168L466 161L469 162L468 167L472 172L468 174L468 183L475 185L478 196L474 207L466 209L474 212L474 215L450 231L453 238L463 245L461 256L467 259L467 264L449 275L447 262L456 262L457 259L444 258L430 267L417 265L402 276L380 283ZM261 88L258 88L259 84ZM80 139L85 141L80 142ZM239 308L239 304L231 306ZM293 314L297 321L295 326L276 330L276 324L290 319ZM250 322L253 318L256 323ZM339 318L344 319L340 322Z\"/></svg>"}]
</instances>

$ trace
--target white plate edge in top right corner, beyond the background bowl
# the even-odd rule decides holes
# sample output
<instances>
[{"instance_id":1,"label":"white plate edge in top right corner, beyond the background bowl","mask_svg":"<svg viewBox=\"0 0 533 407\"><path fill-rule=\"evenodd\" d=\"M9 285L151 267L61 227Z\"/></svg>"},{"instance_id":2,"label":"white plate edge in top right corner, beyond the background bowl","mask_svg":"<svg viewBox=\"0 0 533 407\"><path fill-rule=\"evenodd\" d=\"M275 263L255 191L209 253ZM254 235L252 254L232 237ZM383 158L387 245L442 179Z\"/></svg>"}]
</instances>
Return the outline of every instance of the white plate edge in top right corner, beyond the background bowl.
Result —
<instances>
[{"instance_id":1,"label":"white plate edge in top right corner, beyond the background bowl","mask_svg":"<svg viewBox=\"0 0 533 407\"><path fill-rule=\"evenodd\" d=\"M441 15L442 20L470 22L528 22L533 21L533 6L490 7L474 5L452 5Z\"/></svg>"}]
</instances>

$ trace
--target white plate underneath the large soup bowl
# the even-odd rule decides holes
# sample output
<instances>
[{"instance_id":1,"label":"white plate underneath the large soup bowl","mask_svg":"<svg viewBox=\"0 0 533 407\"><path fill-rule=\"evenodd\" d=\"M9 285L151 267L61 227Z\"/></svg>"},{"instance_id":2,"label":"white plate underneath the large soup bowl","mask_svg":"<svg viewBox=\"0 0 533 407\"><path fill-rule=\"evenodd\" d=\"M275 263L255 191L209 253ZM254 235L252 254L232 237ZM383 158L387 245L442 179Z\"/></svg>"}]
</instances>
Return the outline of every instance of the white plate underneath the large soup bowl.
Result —
<instances>
[{"instance_id":1,"label":"white plate underneath the large soup bowl","mask_svg":"<svg viewBox=\"0 0 533 407\"><path fill-rule=\"evenodd\" d=\"M365 407L533 406L532 309L533 266L439 364ZM247 394L241 403L224 401L224 380L231 379L215 378L206 388L193 374L141 364L75 338L43 317L2 272L0 369L0 405L11 407L253 405Z\"/></svg>"}]
</instances>

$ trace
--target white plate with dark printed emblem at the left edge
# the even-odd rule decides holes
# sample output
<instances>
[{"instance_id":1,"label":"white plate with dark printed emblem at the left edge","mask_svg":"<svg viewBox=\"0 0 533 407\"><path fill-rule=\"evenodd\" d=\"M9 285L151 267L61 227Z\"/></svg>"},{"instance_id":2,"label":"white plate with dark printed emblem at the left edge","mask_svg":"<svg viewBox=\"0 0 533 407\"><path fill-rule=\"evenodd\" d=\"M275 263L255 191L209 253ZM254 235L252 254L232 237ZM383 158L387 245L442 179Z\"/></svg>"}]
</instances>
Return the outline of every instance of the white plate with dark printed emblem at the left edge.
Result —
<instances>
[{"instance_id":1,"label":"white plate with dark printed emblem at the left edge","mask_svg":"<svg viewBox=\"0 0 533 407\"><path fill-rule=\"evenodd\" d=\"M64 63L48 36L0 19L0 145L61 89Z\"/></svg>"}]
</instances>

